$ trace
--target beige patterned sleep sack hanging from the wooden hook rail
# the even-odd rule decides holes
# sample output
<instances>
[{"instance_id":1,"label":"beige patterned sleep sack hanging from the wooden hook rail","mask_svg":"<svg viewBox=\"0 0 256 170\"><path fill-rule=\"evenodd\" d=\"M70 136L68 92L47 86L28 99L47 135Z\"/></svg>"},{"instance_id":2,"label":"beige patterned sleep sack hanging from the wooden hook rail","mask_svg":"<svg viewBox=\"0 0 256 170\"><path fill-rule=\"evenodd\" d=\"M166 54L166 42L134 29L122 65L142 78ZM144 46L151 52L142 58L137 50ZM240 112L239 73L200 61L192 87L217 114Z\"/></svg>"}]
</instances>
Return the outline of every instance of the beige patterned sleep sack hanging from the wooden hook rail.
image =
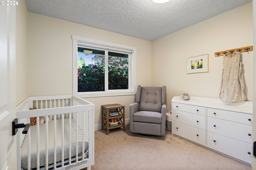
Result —
<instances>
[{"instance_id":1,"label":"beige patterned sleep sack hanging from the wooden hook rail","mask_svg":"<svg viewBox=\"0 0 256 170\"><path fill-rule=\"evenodd\" d=\"M220 99L231 103L243 102L246 99L240 52L223 56Z\"/></svg>"}]
</instances>

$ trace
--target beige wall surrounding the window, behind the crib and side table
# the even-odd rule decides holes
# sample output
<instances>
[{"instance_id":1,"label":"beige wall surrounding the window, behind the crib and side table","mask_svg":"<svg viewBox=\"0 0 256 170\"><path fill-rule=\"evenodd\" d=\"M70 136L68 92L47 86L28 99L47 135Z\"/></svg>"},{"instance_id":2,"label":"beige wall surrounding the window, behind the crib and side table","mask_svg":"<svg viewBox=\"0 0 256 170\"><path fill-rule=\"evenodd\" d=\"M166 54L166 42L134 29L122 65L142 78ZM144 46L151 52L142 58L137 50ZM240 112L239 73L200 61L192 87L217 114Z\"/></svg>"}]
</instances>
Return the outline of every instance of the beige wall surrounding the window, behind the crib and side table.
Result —
<instances>
[{"instance_id":1,"label":"beige wall surrounding the window, behind the crib and side table","mask_svg":"<svg viewBox=\"0 0 256 170\"><path fill-rule=\"evenodd\" d=\"M28 12L29 96L72 94L72 34L137 47L136 84L151 86L151 41ZM123 104L129 119L128 106L135 96L86 100L95 104L95 125L101 127L101 105Z\"/></svg>"}]
</instances>

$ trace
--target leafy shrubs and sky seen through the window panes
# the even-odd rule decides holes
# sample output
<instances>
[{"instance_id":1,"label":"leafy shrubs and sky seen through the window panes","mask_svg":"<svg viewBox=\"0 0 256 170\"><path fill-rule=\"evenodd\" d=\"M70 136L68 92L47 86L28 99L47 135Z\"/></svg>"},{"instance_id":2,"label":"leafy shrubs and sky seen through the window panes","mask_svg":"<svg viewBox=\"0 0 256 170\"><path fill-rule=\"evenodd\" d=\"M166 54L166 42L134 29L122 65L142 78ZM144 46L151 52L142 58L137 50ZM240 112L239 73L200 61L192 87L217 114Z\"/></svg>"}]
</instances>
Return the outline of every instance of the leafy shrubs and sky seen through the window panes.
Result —
<instances>
[{"instance_id":1,"label":"leafy shrubs and sky seen through the window panes","mask_svg":"<svg viewBox=\"0 0 256 170\"><path fill-rule=\"evenodd\" d=\"M78 47L78 92L100 92L106 87L128 89L128 57L124 53Z\"/></svg>"}]
</instances>

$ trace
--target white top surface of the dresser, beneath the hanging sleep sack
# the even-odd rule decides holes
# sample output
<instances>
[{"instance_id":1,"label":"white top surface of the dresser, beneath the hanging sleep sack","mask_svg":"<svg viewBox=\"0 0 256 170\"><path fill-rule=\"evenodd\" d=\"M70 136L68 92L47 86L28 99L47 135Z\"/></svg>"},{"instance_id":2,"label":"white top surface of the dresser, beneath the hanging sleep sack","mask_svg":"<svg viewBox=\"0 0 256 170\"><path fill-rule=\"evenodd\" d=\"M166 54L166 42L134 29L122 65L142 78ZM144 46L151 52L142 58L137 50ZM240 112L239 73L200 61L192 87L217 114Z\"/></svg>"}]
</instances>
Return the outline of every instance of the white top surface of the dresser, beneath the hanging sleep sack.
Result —
<instances>
[{"instance_id":1,"label":"white top surface of the dresser, beneath the hanging sleep sack","mask_svg":"<svg viewBox=\"0 0 256 170\"><path fill-rule=\"evenodd\" d=\"M172 102L203 106L203 107L211 107L216 109L224 109L229 111L237 111L243 113L252 114L252 103L253 102L241 102L241 103L228 103L223 102L217 98L204 98L204 97L196 97L190 96L190 100L183 100L183 96L174 96L172 98Z\"/></svg>"}]
</instances>

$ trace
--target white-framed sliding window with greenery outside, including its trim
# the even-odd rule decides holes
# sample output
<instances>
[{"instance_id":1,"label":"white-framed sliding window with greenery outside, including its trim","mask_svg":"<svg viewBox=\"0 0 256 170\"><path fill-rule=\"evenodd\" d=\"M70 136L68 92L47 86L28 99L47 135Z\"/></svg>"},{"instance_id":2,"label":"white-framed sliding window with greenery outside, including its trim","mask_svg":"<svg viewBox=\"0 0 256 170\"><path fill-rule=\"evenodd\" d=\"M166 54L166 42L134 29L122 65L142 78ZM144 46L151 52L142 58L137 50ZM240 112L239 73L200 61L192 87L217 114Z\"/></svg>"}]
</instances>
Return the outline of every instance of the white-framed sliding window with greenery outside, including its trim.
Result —
<instances>
[{"instance_id":1,"label":"white-framed sliding window with greenery outside, including its trim","mask_svg":"<svg viewBox=\"0 0 256 170\"><path fill-rule=\"evenodd\" d=\"M73 94L79 97L135 94L136 47L72 35Z\"/></svg>"}]
</instances>

